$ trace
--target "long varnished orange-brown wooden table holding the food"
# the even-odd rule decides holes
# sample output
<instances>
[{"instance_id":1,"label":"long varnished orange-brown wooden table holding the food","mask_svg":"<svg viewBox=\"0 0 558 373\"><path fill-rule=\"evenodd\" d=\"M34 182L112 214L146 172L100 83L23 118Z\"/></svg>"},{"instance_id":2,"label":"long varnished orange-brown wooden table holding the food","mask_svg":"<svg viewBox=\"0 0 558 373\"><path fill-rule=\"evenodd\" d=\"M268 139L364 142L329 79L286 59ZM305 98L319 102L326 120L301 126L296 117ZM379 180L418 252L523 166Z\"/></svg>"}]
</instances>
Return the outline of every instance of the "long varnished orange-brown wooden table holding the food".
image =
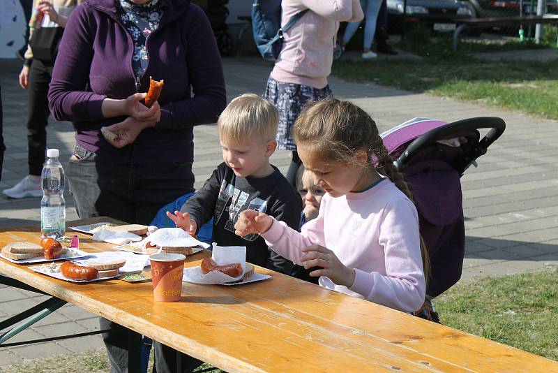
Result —
<instances>
[{"instance_id":1,"label":"long varnished orange-brown wooden table holding the food","mask_svg":"<svg viewBox=\"0 0 558 373\"><path fill-rule=\"evenodd\" d=\"M38 228L5 228L0 245L38 237ZM111 246L80 235L86 251ZM253 284L183 283L181 301L169 303L153 302L151 282L75 284L3 259L0 272L227 372L558 372L552 360L264 268L273 277Z\"/></svg>"}]
</instances>

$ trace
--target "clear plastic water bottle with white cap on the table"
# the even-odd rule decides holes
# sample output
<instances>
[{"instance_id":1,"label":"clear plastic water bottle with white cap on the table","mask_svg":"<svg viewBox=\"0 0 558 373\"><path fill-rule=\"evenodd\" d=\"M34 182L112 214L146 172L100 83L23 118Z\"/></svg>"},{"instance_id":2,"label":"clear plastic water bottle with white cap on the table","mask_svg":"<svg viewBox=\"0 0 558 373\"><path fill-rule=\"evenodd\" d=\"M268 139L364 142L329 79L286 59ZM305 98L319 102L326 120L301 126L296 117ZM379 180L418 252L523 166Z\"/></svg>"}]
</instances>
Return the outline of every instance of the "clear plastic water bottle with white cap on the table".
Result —
<instances>
[{"instance_id":1,"label":"clear plastic water bottle with white cap on the table","mask_svg":"<svg viewBox=\"0 0 558 373\"><path fill-rule=\"evenodd\" d=\"M40 235L60 239L66 231L66 201L64 200L64 170L58 159L58 149L47 149L47 161L40 175L43 199L40 200Z\"/></svg>"}]
</instances>

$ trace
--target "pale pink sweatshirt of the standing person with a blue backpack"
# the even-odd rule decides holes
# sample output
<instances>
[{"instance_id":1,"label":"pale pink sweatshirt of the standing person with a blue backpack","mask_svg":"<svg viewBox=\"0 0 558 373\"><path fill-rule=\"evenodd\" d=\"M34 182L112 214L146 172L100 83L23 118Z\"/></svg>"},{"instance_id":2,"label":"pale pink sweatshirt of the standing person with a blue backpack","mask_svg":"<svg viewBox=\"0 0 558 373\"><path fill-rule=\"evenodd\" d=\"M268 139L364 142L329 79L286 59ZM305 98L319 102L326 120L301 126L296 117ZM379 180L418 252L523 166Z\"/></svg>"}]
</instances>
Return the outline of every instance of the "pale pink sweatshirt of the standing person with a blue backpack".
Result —
<instances>
[{"instance_id":1,"label":"pale pink sweatshirt of the standing person with a blue backpack","mask_svg":"<svg viewBox=\"0 0 558 373\"><path fill-rule=\"evenodd\" d=\"M363 19L359 0L282 0L281 24L310 9L283 35L283 47L271 78L279 82L323 88L331 73L339 22Z\"/></svg>"}]
</instances>

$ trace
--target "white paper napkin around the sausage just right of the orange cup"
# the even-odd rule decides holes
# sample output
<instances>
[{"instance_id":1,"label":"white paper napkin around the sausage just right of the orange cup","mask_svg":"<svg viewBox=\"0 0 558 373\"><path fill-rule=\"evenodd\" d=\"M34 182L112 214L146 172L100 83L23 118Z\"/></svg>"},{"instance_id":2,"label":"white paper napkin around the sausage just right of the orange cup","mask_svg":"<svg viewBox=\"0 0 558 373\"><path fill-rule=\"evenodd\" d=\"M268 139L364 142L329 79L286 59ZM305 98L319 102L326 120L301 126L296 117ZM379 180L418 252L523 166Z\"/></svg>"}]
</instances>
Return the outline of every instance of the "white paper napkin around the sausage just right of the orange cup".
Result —
<instances>
[{"instance_id":1,"label":"white paper napkin around the sausage just right of the orange cup","mask_svg":"<svg viewBox=\"0 0 558 373\"><path fill-rule=\"evenodd\" d=\"M211 258L217 265L240 263L242 274L238 277L230 277L223 272L213 271L204 275L202 268L184 268L182 281L194 282L195 284L224 284L225 282L237 281L246 272L246 246L218 246L213 242Z\"/></svg>"}]
</instances>

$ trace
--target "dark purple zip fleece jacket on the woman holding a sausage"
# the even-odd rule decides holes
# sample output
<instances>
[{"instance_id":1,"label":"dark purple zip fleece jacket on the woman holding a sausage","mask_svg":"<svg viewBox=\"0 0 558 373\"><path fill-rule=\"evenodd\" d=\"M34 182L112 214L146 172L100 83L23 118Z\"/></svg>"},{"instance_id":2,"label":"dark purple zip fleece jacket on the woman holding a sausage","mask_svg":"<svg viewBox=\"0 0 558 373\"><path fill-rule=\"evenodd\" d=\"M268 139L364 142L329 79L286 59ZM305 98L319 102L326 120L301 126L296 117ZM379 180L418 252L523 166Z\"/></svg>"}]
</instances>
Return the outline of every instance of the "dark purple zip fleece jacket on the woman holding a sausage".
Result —
<instances>
[{"instance_id":1,"label":"dark purple zip fleece jacket on the woman holding a sausage","mask_svg":"<svg viewBox=\"0 0 558 373\"><path fill-rule=\"evenodd\" d=\"M149 64L136 87L133 41L116 15L115 0L89 0L66 26L52 72L49 108L75 126L77 145L118 163L193 161L193 126L216 122L226 105L223 66L209 20L189 0L167 0L158 29L146 41ZM126 98L149 89L149 76L165 80L160 122L131 145L116 149L102 126L104 98ZM193 96L193 95L194 96Z\"/></svg>"}]
</instances>

